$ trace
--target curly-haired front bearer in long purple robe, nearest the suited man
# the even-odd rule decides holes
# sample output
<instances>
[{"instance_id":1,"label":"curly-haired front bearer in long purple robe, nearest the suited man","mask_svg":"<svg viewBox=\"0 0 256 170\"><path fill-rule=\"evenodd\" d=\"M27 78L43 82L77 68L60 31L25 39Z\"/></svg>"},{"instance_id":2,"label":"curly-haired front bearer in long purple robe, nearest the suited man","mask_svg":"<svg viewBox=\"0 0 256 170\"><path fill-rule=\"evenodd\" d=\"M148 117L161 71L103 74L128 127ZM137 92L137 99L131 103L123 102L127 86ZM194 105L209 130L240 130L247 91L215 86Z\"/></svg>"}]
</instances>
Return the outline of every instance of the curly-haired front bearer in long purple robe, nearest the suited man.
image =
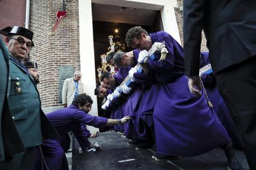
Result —
<instances>
[{"instance_id":1,"label":"curly-haired front bearer in long purple robe, nearest the suited man","mask_svg":"<svg viewBox=\"0 0 256 170\"><path fill-rule=\"evenodd\" d=\"M166 59L148 60L148 49L154 42L163 41L168 50ZM153 111L156 137L153 158L195 156L221 147L228 158L229 169L241 169L231 139L213 108L208 107L205 94L200 91L202 95L193 95L186 85L184 53L179 43L164 31L148 34L140 26L127 31L126 43L142 50L138 62L146 63L153 71L155 81L161 84ZM129 75L135 78L134 74Z\"/></svg>"}]
</instances>

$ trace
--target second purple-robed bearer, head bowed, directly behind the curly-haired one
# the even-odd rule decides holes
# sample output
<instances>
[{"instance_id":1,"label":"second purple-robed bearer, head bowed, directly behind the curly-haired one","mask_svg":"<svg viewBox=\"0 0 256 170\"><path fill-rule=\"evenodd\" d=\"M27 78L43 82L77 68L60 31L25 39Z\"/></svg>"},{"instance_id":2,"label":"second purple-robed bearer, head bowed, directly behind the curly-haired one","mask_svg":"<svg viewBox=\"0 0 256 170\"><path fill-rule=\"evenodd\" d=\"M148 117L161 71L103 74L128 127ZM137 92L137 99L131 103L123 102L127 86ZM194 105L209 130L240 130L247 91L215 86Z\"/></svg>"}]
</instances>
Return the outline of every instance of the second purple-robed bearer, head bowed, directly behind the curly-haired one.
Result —
<instances>
[{"instance_id":1,"label":"second purple-robed bearer, head bowed, directly behind the curly-haired one","mask_svg":"<svg viewBox=\"0 0 256 170\"><path fill-rule=\"evenodd\" d=\"M114 55L114 63L118 68L129 68L137 65L139 51L117 52ZM147 77L147 78L145 78ZM135 144L137 150L151 148L155 144L155 132L153 127L154 95L158 92L158 84L150 81L150 73L138 74L135 88L130 92L126 101L126 115L131 116L129 124L125 124L125 135L132 139L129 144ZM148 84L149 83L149 84Z\"/></svg>"}]
</instances>

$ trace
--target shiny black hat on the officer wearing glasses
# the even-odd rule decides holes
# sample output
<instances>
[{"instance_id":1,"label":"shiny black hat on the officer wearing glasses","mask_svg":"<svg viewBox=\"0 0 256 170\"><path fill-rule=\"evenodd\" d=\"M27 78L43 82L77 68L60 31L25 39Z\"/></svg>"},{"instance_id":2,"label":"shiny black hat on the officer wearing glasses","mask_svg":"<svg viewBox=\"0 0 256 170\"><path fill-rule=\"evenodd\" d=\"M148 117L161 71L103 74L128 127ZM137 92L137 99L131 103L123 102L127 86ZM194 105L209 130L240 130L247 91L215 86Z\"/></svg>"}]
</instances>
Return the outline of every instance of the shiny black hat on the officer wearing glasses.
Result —
<instances>
[{"instance_id":1,"label":"shiny black hat on the officer wearing glasses","mask_svg":"<svg viewBox=\"0 0 256 170\"><path fill-rule=\"evenodd\" d=\"M0 30L0 34L4 34L5 36L20 35L32 41L34 33L21 26L7 26L6 28ZM35 46L33 41L32 46Z\"/></svg>"}]
</instances>

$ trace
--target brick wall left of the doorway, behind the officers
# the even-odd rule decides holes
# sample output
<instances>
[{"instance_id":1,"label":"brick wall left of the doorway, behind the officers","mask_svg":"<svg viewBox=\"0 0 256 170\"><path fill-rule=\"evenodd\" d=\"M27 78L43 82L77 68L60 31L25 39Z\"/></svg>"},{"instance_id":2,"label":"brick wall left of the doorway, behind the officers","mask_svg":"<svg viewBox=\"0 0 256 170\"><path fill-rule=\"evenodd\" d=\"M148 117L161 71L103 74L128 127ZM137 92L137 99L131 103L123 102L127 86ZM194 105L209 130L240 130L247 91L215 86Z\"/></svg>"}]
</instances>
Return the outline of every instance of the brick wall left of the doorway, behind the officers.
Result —
<instances>
[{"instance_id":1,"label":"brick wall left of the doorway, behind the officers","mask_svg":"<svg viewBox=\"0 0 256 170\"><path fill-rule=\"evenodd\" d=\"M78 0L66 0L68 14L57 30L51 32L62 2L32 0L30 6L30 30L34 32L35 43L30 60L38 62L41 81L38 89L43 108L60 106L59 67L72 65L80 70Z\"/></svg>"}]
</instances>

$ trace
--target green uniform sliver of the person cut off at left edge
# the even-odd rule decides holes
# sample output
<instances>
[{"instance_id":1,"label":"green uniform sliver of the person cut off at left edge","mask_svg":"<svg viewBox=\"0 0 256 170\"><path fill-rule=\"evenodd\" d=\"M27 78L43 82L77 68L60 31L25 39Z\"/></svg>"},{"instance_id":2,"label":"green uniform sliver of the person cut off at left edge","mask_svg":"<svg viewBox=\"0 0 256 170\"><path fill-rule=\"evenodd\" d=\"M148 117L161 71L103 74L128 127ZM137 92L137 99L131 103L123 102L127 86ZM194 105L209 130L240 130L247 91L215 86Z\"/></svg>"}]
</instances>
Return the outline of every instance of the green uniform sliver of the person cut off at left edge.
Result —
<instances>
[{"instance_id":1,"label":"green uniform sliver of the person cut off at left edge","mask_svg":"<svg viewBox=\"0 0 256 170\"><path fill-rule=\"evenodd\" d=\"M9 52L0 38L0 162L25 151L17 132L7 98L9 95Z\"/></svg>"}]
</instances>

